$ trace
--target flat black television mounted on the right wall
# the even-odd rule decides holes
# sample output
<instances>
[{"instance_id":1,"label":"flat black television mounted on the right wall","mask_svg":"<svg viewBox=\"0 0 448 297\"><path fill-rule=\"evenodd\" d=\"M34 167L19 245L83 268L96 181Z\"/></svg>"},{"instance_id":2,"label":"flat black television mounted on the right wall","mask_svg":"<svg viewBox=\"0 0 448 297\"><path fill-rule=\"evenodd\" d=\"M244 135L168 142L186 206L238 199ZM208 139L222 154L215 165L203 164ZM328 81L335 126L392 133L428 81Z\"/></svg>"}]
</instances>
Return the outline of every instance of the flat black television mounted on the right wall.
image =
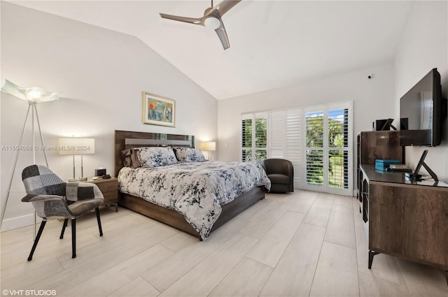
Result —
<instances>
[{"instance_id":1,"label":"flat black television mounted on the right wall","mask_svg":"<svg viewBox=\"0 0 448 297\"><path fill-rule=\"evenodd\" d=\"M400 99L400 145L440 145L446 109L440 73L433 68Z\"/></svg>"}]
</instances>

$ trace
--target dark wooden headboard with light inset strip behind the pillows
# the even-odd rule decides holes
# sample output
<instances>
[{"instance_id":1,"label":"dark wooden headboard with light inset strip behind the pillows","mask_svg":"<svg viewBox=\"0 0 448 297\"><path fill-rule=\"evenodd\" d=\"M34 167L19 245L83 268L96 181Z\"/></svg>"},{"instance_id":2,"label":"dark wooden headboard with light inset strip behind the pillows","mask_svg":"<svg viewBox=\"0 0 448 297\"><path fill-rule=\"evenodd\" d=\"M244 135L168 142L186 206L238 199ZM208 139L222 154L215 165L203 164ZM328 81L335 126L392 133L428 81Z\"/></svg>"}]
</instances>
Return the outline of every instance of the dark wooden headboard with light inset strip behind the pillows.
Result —
<instances>
[{"instance_id":1,"label":"dark wooden headboard with light inset strip behind the pillows","mask_svg":"<svg viewBox=\"0 0 448 297\"><path fill-rule=\"evenodd\" d=\"M168 145L195 147L195 136L116 130L114 176L118 176L118 172L123 168L121 151L130 147L160 147Z\"/></svg>"}]
</instances>

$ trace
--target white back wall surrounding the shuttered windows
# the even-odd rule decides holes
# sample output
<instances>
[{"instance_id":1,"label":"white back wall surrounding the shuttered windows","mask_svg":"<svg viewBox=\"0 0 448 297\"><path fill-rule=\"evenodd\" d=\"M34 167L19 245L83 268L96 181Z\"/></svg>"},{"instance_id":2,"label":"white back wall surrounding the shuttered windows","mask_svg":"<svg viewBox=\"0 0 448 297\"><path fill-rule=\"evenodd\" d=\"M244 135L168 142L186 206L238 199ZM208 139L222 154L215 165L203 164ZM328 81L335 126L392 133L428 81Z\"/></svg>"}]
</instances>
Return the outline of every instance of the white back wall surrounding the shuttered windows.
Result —
<instances>
[{"instance_id":1,"label":"white back wall surrounding the shuttered windows","mask_svg":"<svg viewBox=\"0 0 448 297\"><path fill-rule=\"evenodd\" d=\"M395 115L392 70L391 64L374 66L218 101L218 159L239 161L241 113L344 101L353 101L353 147L356 147L356 134L359 131L371 131L375 119L387 119ZM370 74L373 74L372 79L367 78ZM356 154L356 150L353 152ZM353 160L355 157L353 155ZM356 166L356 162L353 165Z\"/></svg>"}]
</instances>

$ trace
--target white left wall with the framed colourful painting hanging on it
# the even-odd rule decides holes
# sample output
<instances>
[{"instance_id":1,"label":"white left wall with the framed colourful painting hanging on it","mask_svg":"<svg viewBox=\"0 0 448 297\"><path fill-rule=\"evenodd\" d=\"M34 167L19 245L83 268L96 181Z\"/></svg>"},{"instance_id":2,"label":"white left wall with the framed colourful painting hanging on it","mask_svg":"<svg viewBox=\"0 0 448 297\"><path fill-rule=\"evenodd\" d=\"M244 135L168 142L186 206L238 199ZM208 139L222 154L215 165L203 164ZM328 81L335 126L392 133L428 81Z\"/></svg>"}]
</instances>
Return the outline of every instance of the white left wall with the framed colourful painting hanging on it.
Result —
<instances>
[{"instance_id":1,"label":"white left wall with the framed colourful painting hanging on it","mask_svg":"<svg viewBox=\"0 0 448 297\"><path fill-rule=\"evenodd\" d=\"M57 138L92 137L95 154L84 158L92 176L100 166L113 173L114 130L193 134L216 140L217 101L139 39L1 1L1 81L60 91L61 99L38 105L45 145ZM176 128L142 124L142 92L176 100ZM1 145L18 145L27 103L1 94ZM30 119L31 121L31 119ZM25 144L31 144L31 122ZM36 136L37 143L38 136ZM43 152L36 152L44 164ZM2 230L32 224L32 206L20 202L22 168L31 152L20 152ZM1 203L13 171L15 152L1 150ZM71 178L72 159L48 152L48 163ZM77 164L79 166L79 164ZM79 167L78 167L79 168Z\"/></svg>"}]
</instances>

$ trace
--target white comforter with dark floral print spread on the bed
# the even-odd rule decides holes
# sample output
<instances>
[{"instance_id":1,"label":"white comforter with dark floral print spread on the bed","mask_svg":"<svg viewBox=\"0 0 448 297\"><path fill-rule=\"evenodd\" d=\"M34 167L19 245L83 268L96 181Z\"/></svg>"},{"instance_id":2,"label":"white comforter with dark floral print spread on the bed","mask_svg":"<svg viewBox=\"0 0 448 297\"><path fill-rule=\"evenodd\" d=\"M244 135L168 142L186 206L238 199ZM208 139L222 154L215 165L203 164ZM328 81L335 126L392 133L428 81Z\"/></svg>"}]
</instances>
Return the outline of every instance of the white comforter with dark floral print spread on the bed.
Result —
<instances>
[{"instance_id":1,"label":"white comforter with dark floral print spread on the bed","mask_svg":"<svg viewBox=\"0 0 448 297\"><path fill-rule=\"evenodd\" d=\"M123 167L118 180L120 192L181 213L202 239L209 236L221 214L221 205L253 187L271 187L260 164L221 161Z\"/></svg>"}]
</instances>

